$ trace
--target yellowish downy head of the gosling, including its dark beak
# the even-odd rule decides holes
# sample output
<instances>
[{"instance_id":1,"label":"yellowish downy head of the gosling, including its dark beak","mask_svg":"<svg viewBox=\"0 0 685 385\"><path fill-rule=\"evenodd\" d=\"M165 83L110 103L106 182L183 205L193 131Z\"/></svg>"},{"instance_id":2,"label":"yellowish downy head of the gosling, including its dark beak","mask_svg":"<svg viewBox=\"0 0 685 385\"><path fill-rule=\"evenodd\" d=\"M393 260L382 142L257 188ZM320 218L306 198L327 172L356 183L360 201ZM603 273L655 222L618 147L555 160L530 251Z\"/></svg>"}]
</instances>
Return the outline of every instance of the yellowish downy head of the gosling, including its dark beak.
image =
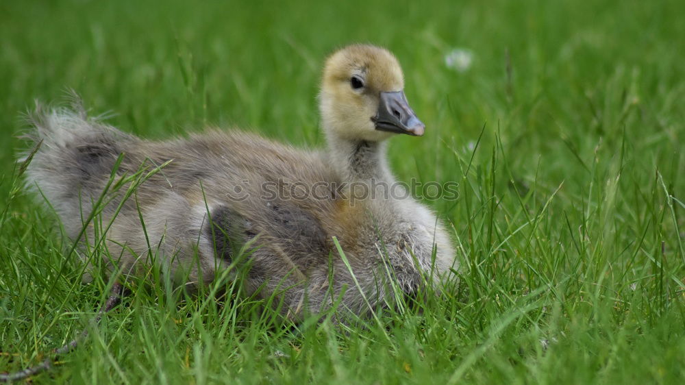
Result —
<instances>
[{"instance_id":1,"label":"yellowish downy head of the gosling, including its dark beak","mask_svg":"<svg viewBox=\"0 0 685 385\"><path fill-rule=\"evenodd\" d=\"M425 125L404 96L399 62L388 50L350 45L326 61L320 108L328 135L377 142L393 134L421 136Z\"/></svg>"}]
</instances>

